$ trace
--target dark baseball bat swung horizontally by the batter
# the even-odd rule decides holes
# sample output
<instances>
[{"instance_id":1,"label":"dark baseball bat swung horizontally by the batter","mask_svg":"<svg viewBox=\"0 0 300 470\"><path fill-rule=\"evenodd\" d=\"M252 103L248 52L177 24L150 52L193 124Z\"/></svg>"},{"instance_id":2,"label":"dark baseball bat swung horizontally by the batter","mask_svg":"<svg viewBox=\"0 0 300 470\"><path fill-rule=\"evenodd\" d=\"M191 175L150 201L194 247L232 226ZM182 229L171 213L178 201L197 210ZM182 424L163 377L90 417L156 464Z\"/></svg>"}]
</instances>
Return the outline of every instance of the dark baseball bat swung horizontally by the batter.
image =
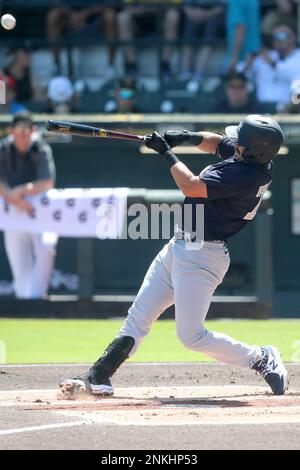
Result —
<instances>
[{"instance_id":1,"label":"dark baseball bat swung horizontally by the batter","mask_svg":"<svg viewBox=\"0 0 300 470\"><path fill-rule=\"evenodd\" d=\"M108 129L101 129L99 127L86 126L76 122L69 121L50 121L46 122L46 129L50 132L57 132L59 134L78 135L80 137L99 137L108 139L125 139L142 141L142 135L128 134L127 132L117 132Z\"/></svg>"}]
</instances>

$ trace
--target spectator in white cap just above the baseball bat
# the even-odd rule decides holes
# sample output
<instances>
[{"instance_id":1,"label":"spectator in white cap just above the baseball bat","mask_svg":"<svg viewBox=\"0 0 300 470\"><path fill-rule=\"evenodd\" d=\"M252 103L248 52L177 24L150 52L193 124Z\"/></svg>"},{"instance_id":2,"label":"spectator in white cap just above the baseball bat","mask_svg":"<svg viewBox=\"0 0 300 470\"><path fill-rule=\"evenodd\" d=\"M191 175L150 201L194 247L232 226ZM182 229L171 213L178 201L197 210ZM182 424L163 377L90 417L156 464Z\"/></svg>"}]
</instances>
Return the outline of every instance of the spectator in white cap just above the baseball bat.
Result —
<instances>
[{"instance_id":1,"label":"spectator in white cap just above the baseball bat","mask_svg":"<svg viewBox=\"0 0 300 470\"><path fill-rule=\"evenodd\" d=\"M47 90L47 113L68 114L75 112L75 93L67 77L54 77Z\"/></svg>"}]
</instances>

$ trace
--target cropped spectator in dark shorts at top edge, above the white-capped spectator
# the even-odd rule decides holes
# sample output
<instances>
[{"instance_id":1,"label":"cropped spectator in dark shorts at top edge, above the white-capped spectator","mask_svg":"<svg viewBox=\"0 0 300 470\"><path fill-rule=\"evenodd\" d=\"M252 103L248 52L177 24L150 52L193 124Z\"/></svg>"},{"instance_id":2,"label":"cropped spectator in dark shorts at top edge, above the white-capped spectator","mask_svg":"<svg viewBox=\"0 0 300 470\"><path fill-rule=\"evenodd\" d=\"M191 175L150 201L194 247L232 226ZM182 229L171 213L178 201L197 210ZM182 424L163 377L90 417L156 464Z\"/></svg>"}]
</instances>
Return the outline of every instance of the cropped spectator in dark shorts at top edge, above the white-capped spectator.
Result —
<instances>
[{"instance_id":1,"label":"cropped spectator in dark shorts at top edge, above the white-capped spectator","mask_svg":"<svg viewBox=\"0 0 300 470\"><path fill-rule=\"evenodd\" d=\"M65 6L63 1L56 2L58 6L52 8L47 15L47 36L53 44L53 56L56 66L55 73L61 74L59 61L59 41L66 33L88 34L99 30L99 19L103 23L105 38L108 41L116 39L116 11L114 7L90 5L85 8L75 8L78 2L68 0ZM100 2L99 2L100 3ZM74 6L72 6L72 4ZM109 47L109 65L113 65L115 47Z\"/></svg>"}]
</instances>

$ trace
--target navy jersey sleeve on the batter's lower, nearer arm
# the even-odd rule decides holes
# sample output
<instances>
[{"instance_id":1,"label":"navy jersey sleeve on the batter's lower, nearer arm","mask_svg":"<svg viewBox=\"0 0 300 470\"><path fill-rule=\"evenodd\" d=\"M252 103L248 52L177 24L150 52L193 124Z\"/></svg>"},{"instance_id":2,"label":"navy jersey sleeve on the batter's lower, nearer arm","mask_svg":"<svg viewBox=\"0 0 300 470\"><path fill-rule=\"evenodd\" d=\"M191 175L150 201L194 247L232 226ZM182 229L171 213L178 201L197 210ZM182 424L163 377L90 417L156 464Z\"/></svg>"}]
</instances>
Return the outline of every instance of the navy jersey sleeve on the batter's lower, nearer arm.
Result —
<instances>
[{"instance_id":1,"label":"navy jersey sleeve on the batter's lower, nearer arm","mask_svg":"<svg viewBox=\"0 0 300 470\"><path fill-rule=\"evenodd\" d=\"M238 196L253 189L251 176L237 163L221 168L212 167L201 176L201 179L206 183L208 199Z\"/></svg>"}]
</instances>

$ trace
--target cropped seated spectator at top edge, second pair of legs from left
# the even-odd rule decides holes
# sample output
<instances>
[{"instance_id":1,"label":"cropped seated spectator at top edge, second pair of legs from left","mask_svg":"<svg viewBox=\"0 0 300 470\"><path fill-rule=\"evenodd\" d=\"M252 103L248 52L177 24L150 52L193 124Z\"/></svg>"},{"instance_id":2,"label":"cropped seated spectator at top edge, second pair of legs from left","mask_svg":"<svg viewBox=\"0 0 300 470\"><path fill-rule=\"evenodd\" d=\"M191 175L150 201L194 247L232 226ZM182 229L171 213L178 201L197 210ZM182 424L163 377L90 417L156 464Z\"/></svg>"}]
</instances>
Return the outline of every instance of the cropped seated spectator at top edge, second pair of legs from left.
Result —
<instances>
[{"instance_id":1,"label":"cropped seated spectator at top edge, second pair of legs from left","mask_svg":"<svg viewBox=\"0 0 300 470\"><path fill-rule=\"evenodd\" d=\"M177 39L180 20L180 10L178 8L172 6L163 11L158 6L149 6L149 2L146 0L139 3L140 5L136 6L124 6L123 10L118 14L119 38L122 41L132 41L145 29L145 20L147 20L148 24L149 19L156 22L162 14L162 30L164 31L162 36L166 41ZM147 6L144 6L143 3L147 3ZM161 75L166 78L172 76L172 51L172 45L166 45L162 51ZM135 77L137 75L137 54L135 47L132 45L124 46L124 56L126 76Z\"/></svg>"}]
</instances>

